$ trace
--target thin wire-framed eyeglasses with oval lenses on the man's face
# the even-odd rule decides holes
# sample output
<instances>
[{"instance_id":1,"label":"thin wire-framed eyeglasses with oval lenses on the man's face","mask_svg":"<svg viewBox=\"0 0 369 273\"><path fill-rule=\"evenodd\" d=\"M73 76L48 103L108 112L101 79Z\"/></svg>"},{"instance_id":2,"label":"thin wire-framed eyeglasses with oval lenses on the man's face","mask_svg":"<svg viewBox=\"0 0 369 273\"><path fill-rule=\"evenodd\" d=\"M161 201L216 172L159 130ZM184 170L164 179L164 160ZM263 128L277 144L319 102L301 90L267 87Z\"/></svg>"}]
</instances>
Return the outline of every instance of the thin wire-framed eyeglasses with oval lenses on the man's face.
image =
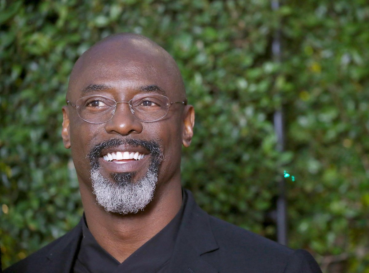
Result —
<instances>
[{"instance_id":1,"label":"thin wire-framed eyeglasses with oval lenses on the man's face","mask_svg":"<svg viewBox=\"0 0 369 273\"><path fill-rule=\"evenodd\" d=\"M135 95L130 101L116 102L112 98L91 95L82 97L73 105L81 119L95 124L107 122L113 118L118 103L128 103L132 115L143 122L154 122L162 119L169 111L169 106L175 103L186 105L185 101L169 102L169 98L158 94Z\"/></svg>"}]
</instances>

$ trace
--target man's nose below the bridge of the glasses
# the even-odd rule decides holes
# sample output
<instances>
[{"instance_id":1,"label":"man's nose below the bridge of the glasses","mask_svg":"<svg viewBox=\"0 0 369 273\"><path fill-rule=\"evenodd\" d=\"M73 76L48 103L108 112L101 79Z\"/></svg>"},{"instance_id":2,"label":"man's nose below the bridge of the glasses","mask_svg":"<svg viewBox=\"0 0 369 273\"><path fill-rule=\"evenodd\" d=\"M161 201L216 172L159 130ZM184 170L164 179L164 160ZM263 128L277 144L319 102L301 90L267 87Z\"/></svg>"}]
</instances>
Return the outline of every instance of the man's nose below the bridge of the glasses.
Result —
<instances>
[{"instance_id":1,"label":"man's nose below the bridge of the glasses","mask_svg":"<svg viewBox=\"0 0 369 273\"><path fill-rule=\"evenodd\" d=\"M137 120L128 102L117 103L113 117L105 123L107 133L118 133L126 136L131 133L139 134L142 132L142 122Z\"/></svg>"}]
</instances>

